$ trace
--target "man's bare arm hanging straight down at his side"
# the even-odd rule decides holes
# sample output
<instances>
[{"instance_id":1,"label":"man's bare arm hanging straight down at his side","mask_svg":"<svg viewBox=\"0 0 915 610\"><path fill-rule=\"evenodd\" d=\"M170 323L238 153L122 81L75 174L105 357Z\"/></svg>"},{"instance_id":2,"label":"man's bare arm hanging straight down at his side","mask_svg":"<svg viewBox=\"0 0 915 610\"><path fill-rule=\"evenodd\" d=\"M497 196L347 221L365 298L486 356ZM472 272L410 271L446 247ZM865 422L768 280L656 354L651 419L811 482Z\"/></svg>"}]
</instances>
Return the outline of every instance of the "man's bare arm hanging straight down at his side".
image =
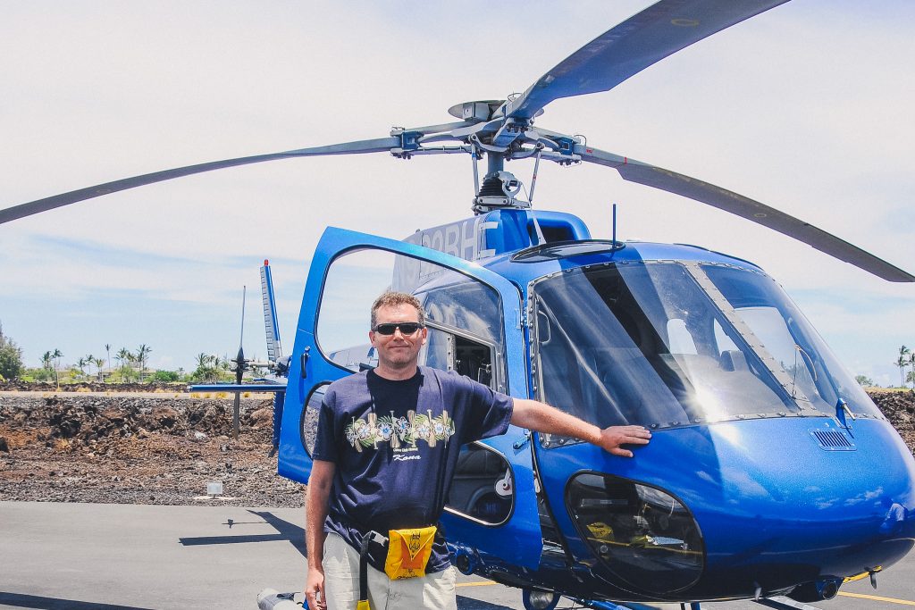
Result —
<instances>
[{"instance_id":1,"label":"man's bare arm hanging straight down at his side","mask_svg":"<svg viewBox=\"0 0 915 610\"><path fill-rule=\"evenodd\" d=\"M308 576L305 595L308 607L326 610L324 597L324 520L328 517L328 498L333 485L337 465L333 462L315 460L308 479L305 498L305 545L308 553ZM317 595L320 594L318 601Z\"/></svg>"}]
</instances>

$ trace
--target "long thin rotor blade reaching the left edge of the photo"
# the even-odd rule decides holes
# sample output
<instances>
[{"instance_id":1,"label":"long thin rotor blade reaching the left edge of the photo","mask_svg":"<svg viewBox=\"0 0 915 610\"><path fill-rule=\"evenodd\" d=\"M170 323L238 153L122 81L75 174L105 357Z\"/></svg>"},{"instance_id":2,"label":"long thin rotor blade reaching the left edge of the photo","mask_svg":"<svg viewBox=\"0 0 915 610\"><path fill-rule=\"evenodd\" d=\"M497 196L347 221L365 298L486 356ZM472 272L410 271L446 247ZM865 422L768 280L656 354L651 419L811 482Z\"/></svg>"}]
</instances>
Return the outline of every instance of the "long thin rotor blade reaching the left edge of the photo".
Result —
<instances>
[{"instance_id":1,"label":"long thin rotor blade reaching the left edge of the photo","mask_svg":"<svg viewBox=\"0 0 915 610\"><path fill-rule=\"evenodd\" d=\"M106 182L95 185L94 187L80 188L71 190L69 193L61 193L52 197L29 201L28 203L19 204L12 208L0 209L0 224L10 220L21 219L38 212L46 212L48 209L68 206L71 203L108 195L119 190L127 188L142 187L154 182L163 182L191 174L200 174L209 172L214 169L223 169L225 167L246 166L253 163L262 163L264 161L274 161L276 159L287 159L296 156L320 156L320 155L354 155L361 153L386 153L392 148L401 145L401 139L398 137L378 138L375 140L359 140L357 142L347 142L344 144L329 144L328 146L315 146L313 148L299 148L297 150L287 150L283 153L272 153L269 155L242 156L235 159L225 159L223 161L211 161L210 163L201 163L196 166L176 167L166 169L152 174L135 176Z\"/></svg>"}]
</instances>

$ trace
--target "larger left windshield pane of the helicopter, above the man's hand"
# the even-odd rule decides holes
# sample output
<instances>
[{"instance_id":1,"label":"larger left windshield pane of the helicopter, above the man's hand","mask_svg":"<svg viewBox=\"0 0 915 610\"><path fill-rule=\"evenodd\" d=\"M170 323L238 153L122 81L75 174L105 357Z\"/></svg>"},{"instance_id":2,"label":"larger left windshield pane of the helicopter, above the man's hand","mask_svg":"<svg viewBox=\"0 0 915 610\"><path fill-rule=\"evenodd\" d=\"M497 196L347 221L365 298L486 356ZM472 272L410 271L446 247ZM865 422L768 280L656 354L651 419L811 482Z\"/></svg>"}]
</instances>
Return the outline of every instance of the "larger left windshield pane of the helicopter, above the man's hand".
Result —
<instances>
[{"instance_id":1,"label":"larger left windshield pane of the helicopter, above the man's hand","mask_svg":"<svg viewBox=\"0 0 915 610\"><path fill-rule=\"evenodd\" d=\"M534 282L532 299L540 396L589 422L657 429L802 411L684 265L566 270Z\"/></svg>"}]
</instances>

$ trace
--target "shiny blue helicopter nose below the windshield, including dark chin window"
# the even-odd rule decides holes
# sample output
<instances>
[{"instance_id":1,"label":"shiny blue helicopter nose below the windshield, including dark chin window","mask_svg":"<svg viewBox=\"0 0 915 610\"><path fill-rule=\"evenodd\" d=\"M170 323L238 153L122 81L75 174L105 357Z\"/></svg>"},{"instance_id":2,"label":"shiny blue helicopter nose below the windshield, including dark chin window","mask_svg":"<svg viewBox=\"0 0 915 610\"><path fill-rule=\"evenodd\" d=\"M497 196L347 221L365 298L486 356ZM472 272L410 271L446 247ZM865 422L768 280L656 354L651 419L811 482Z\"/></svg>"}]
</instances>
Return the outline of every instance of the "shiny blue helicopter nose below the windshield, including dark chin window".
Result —
<instances>
[{"instance_id":1,"label":"shiny blue helicopter nose below the windshield, including dark chin window","mask_svg":"<svg viewBox=\"0 0 915 610\"><path fill-rule=\"evenodd\" d=\"M579 559L597 559L592 569L621 591L720 599L797 588L826 599L846 577L899 561L915 538L915 460L883 421L665 430L613 469L571 476L565 504Z\"/></svg>"}]
</instances>

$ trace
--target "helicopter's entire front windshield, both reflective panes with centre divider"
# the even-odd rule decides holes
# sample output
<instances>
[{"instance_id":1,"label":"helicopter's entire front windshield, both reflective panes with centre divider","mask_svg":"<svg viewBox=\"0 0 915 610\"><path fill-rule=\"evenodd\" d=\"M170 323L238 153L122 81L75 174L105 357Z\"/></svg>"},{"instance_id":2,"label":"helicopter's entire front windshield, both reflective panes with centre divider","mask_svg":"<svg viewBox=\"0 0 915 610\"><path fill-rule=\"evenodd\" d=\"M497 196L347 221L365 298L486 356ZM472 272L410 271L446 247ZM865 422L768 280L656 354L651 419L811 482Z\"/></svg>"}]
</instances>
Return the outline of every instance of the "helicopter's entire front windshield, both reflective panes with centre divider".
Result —
<instances>
[{"instance_id":1,"label":"helicopter's entire front windshield, both reflective panes with centre divider","mask_svg":"<svg viewBox=\"0 0 915 610\"><path fill-rule=\"evenodd\" d=\"M880 417L763 273L602 263L534 282L533 305L542 398L601 426L834 415L839 399Z\"/></svg>"}]
</instances>

